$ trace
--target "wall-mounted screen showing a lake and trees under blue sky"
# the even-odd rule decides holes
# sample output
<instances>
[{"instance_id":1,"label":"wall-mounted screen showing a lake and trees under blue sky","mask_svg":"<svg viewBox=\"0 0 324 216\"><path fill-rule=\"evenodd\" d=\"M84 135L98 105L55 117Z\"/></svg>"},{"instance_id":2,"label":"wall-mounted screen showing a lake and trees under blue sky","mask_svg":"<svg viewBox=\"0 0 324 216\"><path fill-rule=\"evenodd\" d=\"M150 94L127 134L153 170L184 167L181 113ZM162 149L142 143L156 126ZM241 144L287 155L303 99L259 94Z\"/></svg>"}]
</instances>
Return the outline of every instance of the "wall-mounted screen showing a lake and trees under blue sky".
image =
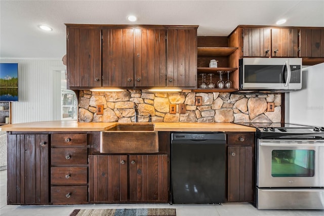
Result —
<instances>
[{"instance_id":1,"label":"wall-mounted screen showing a lake and trees under blue sky","mask_svg":"<svg viewBox=\"0 0 324 216\"><path fill-rule=\"evenodd\" d=\"M0 63L0 101L18 101L18 63Z\"/></svg>"}]
</instances>

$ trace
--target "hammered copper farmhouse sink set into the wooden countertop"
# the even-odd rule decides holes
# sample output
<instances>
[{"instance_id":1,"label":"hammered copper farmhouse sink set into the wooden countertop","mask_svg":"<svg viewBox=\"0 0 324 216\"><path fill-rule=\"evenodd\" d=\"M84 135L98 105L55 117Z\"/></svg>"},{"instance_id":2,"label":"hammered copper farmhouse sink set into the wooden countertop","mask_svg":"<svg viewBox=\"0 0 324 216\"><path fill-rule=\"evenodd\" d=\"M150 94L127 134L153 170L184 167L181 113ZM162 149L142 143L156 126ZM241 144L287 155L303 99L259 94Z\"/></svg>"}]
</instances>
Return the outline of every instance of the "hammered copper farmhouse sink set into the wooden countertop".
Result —
<instances>
[{"instance_id":1,"label":"hammered copper farmhouse sink set into the wooden countertop","mask_svg":"<svg viewBox=\"0 0 324 216\"><path fill-rule=\"evenodd\" d=\"M123 124L100 132L100 153L157 153L153 124Z\"/></svg>"}]
</instances>

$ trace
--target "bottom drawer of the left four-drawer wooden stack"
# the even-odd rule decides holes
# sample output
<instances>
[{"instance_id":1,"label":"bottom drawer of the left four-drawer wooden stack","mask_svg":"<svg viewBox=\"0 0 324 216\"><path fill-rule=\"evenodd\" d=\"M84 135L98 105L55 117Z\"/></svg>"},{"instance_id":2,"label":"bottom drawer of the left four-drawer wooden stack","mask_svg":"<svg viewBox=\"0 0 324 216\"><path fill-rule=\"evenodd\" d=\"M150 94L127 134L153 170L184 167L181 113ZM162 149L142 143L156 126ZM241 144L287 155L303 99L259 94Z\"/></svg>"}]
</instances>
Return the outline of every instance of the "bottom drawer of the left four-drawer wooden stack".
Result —
<instances>
[{"instance_id":1,"label":"bottom drawer of the left four-drawer wooden stack","mask_svg":"<svg viewBox=\"0 0 324 216\"><path fill-rule=\"evenodd\" d=\"M51 187L53 204L87 203L87 186L53 186Z\"/></svg>"}]
</instances>

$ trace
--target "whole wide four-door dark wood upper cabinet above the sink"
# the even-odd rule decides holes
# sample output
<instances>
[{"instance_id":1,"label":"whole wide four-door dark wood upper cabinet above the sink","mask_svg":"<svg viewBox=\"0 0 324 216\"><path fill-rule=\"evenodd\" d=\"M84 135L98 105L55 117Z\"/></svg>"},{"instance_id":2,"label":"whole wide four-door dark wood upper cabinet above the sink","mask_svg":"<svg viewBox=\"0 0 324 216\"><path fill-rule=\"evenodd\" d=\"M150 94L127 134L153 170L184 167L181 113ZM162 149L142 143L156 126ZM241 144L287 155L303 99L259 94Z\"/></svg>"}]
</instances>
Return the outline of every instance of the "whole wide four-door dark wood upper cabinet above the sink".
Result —
<instances>
[{"instance_id":1,"label":"whole wide four-door dark wood upper cabinet above the sink","mask_svg":"<svg viewBox=\"0 0 324 216\"><path fill-rule=\"evenodd\" d=\"M66 26L70 89L196 86L198 26Z\"/></svg>"}]
</instances>

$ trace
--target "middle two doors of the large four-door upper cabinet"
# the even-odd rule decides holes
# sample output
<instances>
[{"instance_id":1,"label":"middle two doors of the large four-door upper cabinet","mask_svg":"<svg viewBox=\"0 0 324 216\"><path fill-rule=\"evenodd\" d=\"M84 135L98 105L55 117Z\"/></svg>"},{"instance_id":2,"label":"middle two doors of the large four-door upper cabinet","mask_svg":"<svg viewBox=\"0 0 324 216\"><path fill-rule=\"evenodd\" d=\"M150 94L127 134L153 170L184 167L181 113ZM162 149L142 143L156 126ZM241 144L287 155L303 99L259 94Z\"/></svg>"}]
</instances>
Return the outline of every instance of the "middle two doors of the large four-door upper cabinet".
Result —
<instances>
[{"instance_id":1,"label":"middle two doors of the large four-door upper cabinet","mask_svg":"<svg viewBox=\"0 0 324 216\"><path fill-rule=\"evenodd\" d=\"M164 28L102 30L103 87L165 87Z\"/></svg>"}]
</instances>

